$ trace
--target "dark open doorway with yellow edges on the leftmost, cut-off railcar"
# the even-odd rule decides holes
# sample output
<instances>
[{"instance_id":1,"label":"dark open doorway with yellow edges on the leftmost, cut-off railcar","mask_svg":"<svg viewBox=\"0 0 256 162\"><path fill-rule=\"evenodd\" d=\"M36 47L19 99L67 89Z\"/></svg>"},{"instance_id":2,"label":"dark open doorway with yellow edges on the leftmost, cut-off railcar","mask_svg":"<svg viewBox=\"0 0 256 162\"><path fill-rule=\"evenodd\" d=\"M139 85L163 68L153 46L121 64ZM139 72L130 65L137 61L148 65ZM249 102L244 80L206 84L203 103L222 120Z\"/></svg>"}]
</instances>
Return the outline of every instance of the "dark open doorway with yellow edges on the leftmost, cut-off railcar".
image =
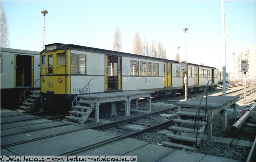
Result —
<instances>
[{"instance_id":1,"label":"dark open doorway with yellow edges on the leftmost, cut-off railcar","mask_svg":"<svg viewBox=\"0 0 256 162\"><path fill-rule=\"evenodd\" d=\"M29 87L32 83L34 83L34 56L15 54L14 88Z\"/></svg>"}]
</instances>

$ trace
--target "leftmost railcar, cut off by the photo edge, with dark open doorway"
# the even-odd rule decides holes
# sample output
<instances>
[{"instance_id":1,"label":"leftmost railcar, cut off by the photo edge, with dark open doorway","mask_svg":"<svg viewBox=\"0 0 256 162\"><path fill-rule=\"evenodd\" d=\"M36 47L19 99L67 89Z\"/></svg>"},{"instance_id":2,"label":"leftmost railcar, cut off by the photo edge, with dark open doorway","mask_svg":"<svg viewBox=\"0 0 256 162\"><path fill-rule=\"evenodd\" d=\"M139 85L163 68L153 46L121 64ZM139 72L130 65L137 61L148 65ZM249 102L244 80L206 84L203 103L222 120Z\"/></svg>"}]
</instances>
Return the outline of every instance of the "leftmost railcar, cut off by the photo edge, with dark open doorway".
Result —
<instances>
[{"instance_id":1,"label":"leftmost railcar, cut off by the photo edge, with dark open doorway","mask_svg":"<svg viewBox=\"0 0 256 162\"><path fill-rule=\"evenodd\" d=\"M1 102L1 107L17 108L26 89L40 90L39 80L39 52L1 47L1 101L11 101Z\"/></svg>"}]
</instances>

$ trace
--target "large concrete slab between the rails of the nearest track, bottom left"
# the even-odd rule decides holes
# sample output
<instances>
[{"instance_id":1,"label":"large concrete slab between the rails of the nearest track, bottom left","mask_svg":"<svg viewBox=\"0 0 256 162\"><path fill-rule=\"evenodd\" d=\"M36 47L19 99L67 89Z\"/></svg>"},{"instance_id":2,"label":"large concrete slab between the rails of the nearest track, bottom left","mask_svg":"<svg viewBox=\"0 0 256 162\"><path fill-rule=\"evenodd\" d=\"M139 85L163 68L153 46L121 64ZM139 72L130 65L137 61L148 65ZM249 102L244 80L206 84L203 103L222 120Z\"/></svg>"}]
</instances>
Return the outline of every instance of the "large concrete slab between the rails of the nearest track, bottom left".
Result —
<instances>
[{"instance_id":1,"label":"large concrete slab between the rails of the nearest track, bottom left","mask_svg":"<svg viewBox=\"0 0 256 162\"><path fill-rule=\"evenodd\" d=\"M109 140L117 135L86 129L78 132L54 136L43 140L11 146L6 149L17 155L62 155L70 151L94 145L98 142ZM2 154L1 154L2 155Z\"/></svg>"}]
</instances>

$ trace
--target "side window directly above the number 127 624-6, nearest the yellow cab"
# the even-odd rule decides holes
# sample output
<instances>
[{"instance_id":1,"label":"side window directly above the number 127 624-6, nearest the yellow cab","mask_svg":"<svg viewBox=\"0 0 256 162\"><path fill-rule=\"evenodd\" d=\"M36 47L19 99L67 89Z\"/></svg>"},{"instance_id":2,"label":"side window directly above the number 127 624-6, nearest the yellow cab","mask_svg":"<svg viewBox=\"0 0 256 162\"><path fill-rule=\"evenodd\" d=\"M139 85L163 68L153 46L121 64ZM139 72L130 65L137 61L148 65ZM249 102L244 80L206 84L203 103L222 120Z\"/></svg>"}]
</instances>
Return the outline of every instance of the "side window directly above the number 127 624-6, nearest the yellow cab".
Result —
<instances>
[{"instance_id":1,"label":"side window directly above the number 127 624-6, nearest the yellow cab","mask_svg":"<svg viewBox=\"0 0 256 162\"><path fill-rule=\"evenodd\" d=\"M71 74L85 74L86 72L86 55L71 54L70 58Z\"/></svg>"}]
</instances>

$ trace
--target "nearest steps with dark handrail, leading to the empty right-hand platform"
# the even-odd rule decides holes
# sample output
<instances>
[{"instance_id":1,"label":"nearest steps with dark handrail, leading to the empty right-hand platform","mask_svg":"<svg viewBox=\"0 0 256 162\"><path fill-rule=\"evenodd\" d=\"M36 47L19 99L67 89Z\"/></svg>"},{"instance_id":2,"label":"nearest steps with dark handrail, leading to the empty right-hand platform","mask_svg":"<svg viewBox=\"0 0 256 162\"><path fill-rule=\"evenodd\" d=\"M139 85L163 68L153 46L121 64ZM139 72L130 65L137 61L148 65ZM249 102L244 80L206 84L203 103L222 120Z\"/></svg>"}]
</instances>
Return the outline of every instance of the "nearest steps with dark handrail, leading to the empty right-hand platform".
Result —
<instances>
[{"instance_id":1,"label":"nearest steps with dark handrail, leading to the empty right-hand platform","mask_svg":"<svg viewBox=\"0 0 256 162\"><path fill-rule=\"evenodd\" d=\"M181 108L179 106L178 112L176 112L178 118L173 120L175 124L169 127L171 133L166 134L167 141L162 142L162 145L189 150L196 150L199 147L208 121L208 114L206 113L208 83L204 90L204 94L206 93L206 109L200 110L204 94L198 108Z\"/></svg>"}]
</instances>

